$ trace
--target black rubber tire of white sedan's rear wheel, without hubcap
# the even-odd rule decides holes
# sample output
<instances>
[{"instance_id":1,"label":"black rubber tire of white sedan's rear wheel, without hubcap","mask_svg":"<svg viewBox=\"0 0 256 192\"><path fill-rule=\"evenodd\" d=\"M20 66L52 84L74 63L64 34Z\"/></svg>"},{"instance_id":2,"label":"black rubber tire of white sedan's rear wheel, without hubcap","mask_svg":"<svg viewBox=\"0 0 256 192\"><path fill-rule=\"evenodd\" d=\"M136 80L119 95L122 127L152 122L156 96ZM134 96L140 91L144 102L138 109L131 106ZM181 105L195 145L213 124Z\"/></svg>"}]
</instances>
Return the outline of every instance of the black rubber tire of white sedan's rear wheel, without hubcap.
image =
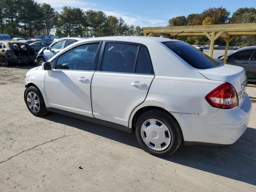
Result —
<instances>
[{"instance_id":1,"label":"black rubber tire of white sedan's rear wheel, without hubcap","mask_svg":"<svg viewBox=\"0 0 256 192\"><path fill-rule=\"evenodd\" d=\"M171 134L171 142L164 150L153 150L142 140L141 127L148 119L157 119L163 122ZM173 154L182 143L182 131L178 122L168 112L159 109L149 110L143 113L136 122L136 138L143 150L154 156L168 156Z\"/></svg>"}]
</instances>

